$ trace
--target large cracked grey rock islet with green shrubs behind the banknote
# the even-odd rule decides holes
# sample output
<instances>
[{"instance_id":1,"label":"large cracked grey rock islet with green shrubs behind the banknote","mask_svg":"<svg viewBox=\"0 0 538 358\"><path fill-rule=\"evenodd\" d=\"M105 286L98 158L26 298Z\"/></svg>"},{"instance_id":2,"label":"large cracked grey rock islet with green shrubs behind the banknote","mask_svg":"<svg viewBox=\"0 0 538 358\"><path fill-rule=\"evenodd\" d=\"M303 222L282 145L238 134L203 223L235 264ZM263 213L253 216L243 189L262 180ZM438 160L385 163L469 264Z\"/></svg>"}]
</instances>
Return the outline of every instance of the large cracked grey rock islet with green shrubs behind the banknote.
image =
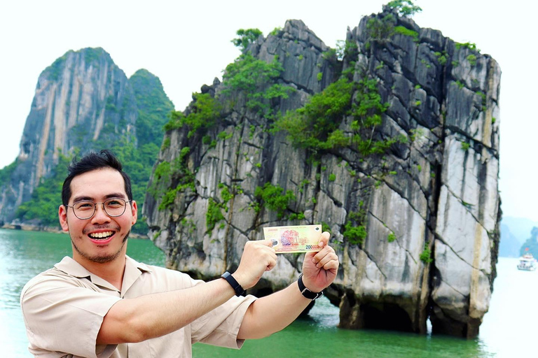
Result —
<instances>
[{"instance_id":1,"label":"large cracked grey rock islet with green shrubs behind the banknote","mask_svg":"<svg viewBox=\"0 0 538 358\"><path fill-rule=\"evenodd\" d=\"M476 336L499 246L499 66L389 9L346 39L340 59L289 20L193 96L154 167L151 237L168 266L207 279L262 227L322 223L340 327L425 333L429 319ZM252 292L289 285L301 260L280 257Z\"/></svg>"}]
</instances>

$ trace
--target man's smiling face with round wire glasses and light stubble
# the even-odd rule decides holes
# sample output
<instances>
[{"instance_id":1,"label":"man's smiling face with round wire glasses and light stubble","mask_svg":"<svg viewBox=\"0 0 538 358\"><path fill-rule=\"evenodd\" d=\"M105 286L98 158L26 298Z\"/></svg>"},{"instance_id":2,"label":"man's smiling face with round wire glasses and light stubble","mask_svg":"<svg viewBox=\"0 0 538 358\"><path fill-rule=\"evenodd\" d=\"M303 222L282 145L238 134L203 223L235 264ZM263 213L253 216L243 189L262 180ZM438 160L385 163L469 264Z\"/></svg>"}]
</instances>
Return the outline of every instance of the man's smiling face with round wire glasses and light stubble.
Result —
<instances>
[{"instance_id":1,"label":"man's smiling face with round wire glasses and light stubble","mask_svg":"<svg viewBox=\"0 0 538 358\"><path fill-rule=\"evenodd\" d=\"M101 203L111 198L128 200L123 177L114 169L88 171L71 181L69 206L81 200L97 203L95 214L87 220L78 219L71 207L62 205L58 211L62 229L71 236L73 258L80 264L111 262L125 255L125 241L137 222L137 203L127 202L123 215L110 217Z\"/></svg>"}]
</instances>

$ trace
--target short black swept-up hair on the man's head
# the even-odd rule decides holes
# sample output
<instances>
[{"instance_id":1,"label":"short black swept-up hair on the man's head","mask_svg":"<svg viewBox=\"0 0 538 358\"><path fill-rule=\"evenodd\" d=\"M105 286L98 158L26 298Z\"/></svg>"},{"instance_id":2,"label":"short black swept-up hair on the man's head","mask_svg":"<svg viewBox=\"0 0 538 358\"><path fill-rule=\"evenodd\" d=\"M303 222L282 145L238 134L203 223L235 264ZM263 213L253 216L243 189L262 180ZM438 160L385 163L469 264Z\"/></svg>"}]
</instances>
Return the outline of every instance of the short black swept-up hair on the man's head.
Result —
<instances>
[{"instance_id":1,"label":"short black swept-up hair on the man's head","mask_svg":"<svg viewBox=\"0 0 538 358\"><path fill-rule=\"evenodd\" d=\"M125 182L125 192L127 193L127 198L132 200L132 190L131 190L131 180L127 173L125 173L122 168L121 162L115 155L112 154L110 150L104 149L99 153L88 152L81 160L76 160L76 157L73 158L69 168L67 168L67 178L64 180L64 185L62 186L62 203L64 205L69 204L69 199L71 198L71 181L76 176L80 176L83 173L88 171L95 171L95 169L111 168L119 171L123 177L123 182Z\"/></svg>"}]
</instances>

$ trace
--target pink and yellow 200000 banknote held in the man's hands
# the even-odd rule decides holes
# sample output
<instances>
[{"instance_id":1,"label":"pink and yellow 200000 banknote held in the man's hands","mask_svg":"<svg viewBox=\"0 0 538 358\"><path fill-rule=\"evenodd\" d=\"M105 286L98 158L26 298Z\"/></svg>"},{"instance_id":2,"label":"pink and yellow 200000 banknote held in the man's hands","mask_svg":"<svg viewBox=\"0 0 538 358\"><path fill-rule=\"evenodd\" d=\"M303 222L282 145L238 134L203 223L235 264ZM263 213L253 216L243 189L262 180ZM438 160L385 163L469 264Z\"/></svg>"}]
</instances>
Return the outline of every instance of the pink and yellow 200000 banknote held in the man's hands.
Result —
<instances>
[{"instance_id":1,"label":"pink and yellow 200000 banknote held in the man's hands","mask_svg":"<svg viewBox=\"0 0 538 358\"><path fill-rule=\"evenodd\" d=\"M273 242L277 254L319 251L322 225L297 225L289 227L264 227L265 240Z\"/></svg>"}]
</instances>

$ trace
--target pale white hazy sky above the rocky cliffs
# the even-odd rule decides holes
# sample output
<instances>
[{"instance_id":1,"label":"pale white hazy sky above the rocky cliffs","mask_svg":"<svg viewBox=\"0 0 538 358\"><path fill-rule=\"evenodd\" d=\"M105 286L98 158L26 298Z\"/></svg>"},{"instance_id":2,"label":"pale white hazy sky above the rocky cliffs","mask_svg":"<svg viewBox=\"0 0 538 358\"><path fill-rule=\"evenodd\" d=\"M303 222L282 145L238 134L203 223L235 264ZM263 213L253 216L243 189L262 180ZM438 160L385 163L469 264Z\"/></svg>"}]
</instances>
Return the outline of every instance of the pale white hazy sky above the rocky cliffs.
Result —
<instances>
[{"instance_id":1,"label":"pale white hazy sky above the rocky cliffs","mask_svg":"<svg viewBox=\"0 0 538 358\"><path fill-rule=\"evenodd\" d=\"M184 110L193 92L221 78L240 55L230 43L237 29L258 28L266 35L288 19L300 19L334 48L345 39L347 27L380 12L388 1L1 1L0 168L18 155L39 74L68 50L104 48L127 76L149 70L160 78L176 109ZM537 2L414 3L422 8L413 17L420 27L476 43L481 53L499 62L502 210L504 216L538 222L538 166L525 162L537 152L533 109L538 74L532 62L537 58Z\"/></svg>"}]
</instances>

